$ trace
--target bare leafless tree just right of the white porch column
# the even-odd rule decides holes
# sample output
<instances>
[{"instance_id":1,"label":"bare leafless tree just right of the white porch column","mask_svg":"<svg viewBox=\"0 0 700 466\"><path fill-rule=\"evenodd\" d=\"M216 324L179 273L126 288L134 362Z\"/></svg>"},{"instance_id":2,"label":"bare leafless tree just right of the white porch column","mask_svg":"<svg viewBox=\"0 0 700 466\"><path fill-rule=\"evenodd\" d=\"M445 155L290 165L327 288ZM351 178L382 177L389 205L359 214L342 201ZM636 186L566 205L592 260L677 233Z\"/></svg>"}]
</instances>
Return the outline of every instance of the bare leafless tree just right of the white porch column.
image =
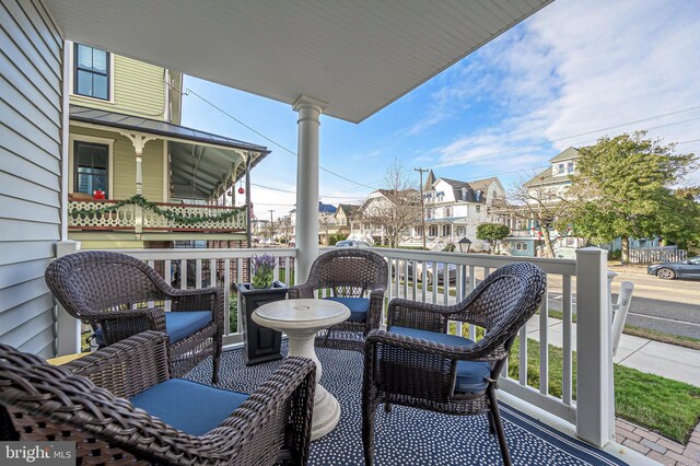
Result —
<instances>
[{"instance_id":1,"label":"bare leafless tree just right of the white porch column","mask_svg":"<svg viewBox=\"0 0 700 466\"><path fill-rule=\"evenodd\" d=\"M420 196L397 160L386 170L384 186L366 201L362 217L384 230L389 247L398 247L401 234L420 221Z\"/></svg>"}]
</instances>

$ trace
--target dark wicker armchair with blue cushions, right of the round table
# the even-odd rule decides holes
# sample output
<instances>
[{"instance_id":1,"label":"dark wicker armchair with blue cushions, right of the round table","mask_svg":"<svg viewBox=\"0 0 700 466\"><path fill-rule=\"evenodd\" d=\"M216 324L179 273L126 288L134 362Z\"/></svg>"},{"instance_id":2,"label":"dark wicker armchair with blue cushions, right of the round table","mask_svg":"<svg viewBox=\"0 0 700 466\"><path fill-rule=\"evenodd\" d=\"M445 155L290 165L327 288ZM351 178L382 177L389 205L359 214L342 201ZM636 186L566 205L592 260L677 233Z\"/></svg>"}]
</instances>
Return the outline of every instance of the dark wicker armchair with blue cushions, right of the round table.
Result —
<instances>
[{"instance_id":1,"label":"dark wicker armchair with blue cushions, right of the round table","mask_svg":"<svg viewBox=\"0 0 700 466\"><path fill-rule=\"evenodd\" d=\"M537 311L547 278L536 266L501 267L460 303L392 300L387 329L368 335L362 387L362 442L373 464L374 416L390 404L448 415L488 413L503 463L511 464L495 388L518 329ZM447 335L448 321L487 330L478 342Z\"/></svg>"}]
</instances>

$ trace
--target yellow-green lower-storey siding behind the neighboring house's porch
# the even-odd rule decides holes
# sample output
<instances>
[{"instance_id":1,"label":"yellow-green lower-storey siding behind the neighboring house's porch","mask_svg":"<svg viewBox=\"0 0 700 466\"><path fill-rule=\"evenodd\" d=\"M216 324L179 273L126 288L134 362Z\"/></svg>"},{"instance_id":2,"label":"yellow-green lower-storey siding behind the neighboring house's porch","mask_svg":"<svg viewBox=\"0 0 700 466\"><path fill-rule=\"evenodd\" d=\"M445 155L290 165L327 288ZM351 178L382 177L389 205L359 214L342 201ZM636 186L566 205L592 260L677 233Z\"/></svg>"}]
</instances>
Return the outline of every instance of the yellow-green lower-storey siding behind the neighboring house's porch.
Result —
<instances>
[{"instance_id":1,"label":"yellow-green lower-storey siding behind the neighboring house's porch","mask_svg":"<svg viewBox=\"0 0 700 466\"><path fill-rule=\"evenodd\" d=\"M136 152L133 144L126 137L118 132L105 131L93 128L84 128L71 125L70 135L73 140L80 140L81 136L92 138L113 139L112 153L112 186L109 186L110 199L127 199L136 194ZM142 171L143 171L143 196L153 202L167 202L170 199L163 198L163 144L166 142L160 139L147 142L143 148ZM74 172L73 161L70 161L71 173ZM73 191L73 184L69 187L69 193Z\"/></svg>"}]
</instances>

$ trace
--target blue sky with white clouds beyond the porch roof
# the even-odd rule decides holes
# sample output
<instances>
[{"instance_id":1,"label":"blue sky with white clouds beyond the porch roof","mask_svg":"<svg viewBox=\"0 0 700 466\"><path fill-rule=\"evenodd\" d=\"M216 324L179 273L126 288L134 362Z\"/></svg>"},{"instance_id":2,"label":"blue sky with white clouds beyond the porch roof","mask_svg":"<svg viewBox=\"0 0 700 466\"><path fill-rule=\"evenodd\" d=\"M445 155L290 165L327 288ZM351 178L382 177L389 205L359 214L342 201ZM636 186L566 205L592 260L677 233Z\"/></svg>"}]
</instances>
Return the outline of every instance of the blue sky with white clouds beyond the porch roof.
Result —
<instances>
[{"instance_id":1,"label":"blue sky with white clouds beyond the porch roof","mask_svg":"<svg viewBox=\"0 0 700 466\"><path fill-rule=\"evenodd\" d=\"M242 63L245 66L245 63ZM254 171L255 213L295 202L296 113L290 105L187 77L183 124L267 145ZM322 117L324 202L359 203L397 159L436 176L499 176L509 188L569 145L649 129L700 154L697 0L557 0L359 125ZM700 184L695 173L688 183ZM289 193L288 193L289 191Z\"/></svg>"}]
</instances>

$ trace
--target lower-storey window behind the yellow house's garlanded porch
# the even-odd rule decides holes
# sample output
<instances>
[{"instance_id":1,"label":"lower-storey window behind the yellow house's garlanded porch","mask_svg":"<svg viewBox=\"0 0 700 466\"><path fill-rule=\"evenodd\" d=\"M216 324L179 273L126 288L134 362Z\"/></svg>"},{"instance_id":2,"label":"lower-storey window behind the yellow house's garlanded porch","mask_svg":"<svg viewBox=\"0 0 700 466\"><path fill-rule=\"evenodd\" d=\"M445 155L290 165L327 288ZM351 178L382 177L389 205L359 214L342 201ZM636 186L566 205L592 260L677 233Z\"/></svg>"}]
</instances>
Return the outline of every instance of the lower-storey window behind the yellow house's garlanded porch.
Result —
<instances>
[{"instance_id":1,"label":"lower-storey window behind the yellow house's garlanded porch","mask_svg":"<svg viewBox=\"0 0 700 466\"><path fill-rule=\"evenodd\" d=\"M75 141L73 145L73 193L93 195L97 189L109 198L107 166L109 145Z\"/></svg>"}]
</instances>

